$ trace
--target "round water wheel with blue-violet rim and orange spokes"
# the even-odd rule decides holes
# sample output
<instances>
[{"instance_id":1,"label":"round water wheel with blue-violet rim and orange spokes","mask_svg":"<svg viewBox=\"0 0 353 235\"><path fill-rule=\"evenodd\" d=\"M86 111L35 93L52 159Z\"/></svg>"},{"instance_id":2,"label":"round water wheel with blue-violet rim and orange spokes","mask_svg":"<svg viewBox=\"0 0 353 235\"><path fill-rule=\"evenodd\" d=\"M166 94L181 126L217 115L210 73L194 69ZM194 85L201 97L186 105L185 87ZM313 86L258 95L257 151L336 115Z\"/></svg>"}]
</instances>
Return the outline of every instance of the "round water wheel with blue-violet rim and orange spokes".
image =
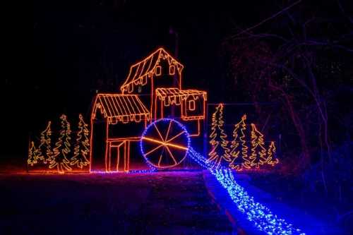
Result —
<instances>
[{"instance_id":1,"label":"round water wheel with blue-violet rim and orange spokes","mask_svg":"<svg viewBox=\"0 0 353 235\"><path fill-rule=\"evenodd\" d=\"M175 167L188 154L190 136L186 128L174 119L152 122L142 134L143 157L158 168Z\"/></svg>"}]
</instances>

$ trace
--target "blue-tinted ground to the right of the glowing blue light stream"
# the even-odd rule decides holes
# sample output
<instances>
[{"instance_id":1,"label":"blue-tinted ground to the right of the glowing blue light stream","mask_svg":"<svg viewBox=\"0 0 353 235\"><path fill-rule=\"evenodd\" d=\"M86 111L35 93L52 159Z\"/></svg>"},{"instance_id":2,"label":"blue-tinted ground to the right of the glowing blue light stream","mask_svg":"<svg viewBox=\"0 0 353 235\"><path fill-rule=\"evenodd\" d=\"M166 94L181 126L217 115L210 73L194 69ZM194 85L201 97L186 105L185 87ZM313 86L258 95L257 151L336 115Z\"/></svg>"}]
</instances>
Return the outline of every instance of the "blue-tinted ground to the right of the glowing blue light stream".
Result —
<instances>
[{"instance_id":1,"label":"blue-tinted ground to the right of the glowing blue light stream","mask_svg":"<svg viewBox=\"0 0 353 235\"><path fill-rule=\"evenodd\" d=\"M345 187L342 200L339 201L337 196L325 195L318 183L315 184L316 188L309 191L308 187L294 176L273 173L252 173L248 176L251 186L270 193L277 203L297 208L303 215L311 215L324 224L325 228L322 228L321 234L353 234L352 182ZM305 223L305 220L301 223Z\"/></svg>"}]
</instances>

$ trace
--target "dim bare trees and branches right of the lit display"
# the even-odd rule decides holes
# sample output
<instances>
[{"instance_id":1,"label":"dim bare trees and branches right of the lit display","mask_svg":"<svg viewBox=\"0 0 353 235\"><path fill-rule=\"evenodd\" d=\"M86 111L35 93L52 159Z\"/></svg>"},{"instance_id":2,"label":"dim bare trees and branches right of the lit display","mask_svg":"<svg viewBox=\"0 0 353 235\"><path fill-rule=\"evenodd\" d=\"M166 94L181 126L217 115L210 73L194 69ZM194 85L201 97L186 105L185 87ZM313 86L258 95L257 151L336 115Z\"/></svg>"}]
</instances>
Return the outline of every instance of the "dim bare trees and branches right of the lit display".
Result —
<instances>
[{"instance_id":1,"label":"dim bare trees and branches right of the lit display","mask_svg":"<svg viewBox=\"0 0 353 235\"><path fill-rule=\"evenodd\" d=\"M313 172L326 195L340 191L341 177L352 179L349 169L339 170L350 162L347 153L333 151L352 141L352 26L340 1L320 2L315 11L302 1L225 42L232 92L251 99L260 118L277 119L284 169L302 179ZM268 114L261 102L280 108Z\"/></svg>"}]
</instances>

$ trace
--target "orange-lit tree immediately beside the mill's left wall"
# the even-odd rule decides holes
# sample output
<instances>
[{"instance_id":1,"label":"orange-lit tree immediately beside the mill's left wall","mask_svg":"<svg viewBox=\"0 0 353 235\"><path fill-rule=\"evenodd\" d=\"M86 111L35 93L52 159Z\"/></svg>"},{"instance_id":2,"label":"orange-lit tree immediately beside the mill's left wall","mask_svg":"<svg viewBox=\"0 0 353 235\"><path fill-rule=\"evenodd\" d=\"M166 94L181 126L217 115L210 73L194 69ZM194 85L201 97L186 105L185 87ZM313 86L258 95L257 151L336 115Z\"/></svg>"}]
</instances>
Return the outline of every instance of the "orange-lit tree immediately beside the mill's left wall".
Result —
<instances>
[{"instance_id":1,"label":"orange-lit tree immediately beside the mill's left wall","mask_svg":"<svg viewBox=\"0 0 353 235\"><path fill-rule=\"evenodd\" d=\"M83 116L80 114L78 116L80 121L78 121L78 133L76 138L76 145L73 152L73 157L71 158L71 165L76 164L77 167L82 169L82 167L90 164L90 161L87 159L88 152L90 152L90 140L88 135L88 124L83 121Z\"/></svg>"}]
</instances>

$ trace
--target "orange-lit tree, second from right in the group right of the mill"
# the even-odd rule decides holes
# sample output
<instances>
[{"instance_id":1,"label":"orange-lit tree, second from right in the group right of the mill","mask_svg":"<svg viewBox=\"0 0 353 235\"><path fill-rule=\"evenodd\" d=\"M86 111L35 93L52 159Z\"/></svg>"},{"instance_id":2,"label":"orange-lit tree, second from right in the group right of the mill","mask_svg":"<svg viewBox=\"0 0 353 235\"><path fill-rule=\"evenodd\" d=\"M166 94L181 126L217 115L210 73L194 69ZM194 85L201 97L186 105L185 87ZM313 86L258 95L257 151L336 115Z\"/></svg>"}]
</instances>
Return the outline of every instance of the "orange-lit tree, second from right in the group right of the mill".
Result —
<instances>
[{"instance_id":1,"label":"orange-lit tree, second from right in the group right of the mill","mask_svg":"<svg viewBox=\"0 0 353 235\"><path fill-rule=\"evenodd\" d=\"M251 167L259 168L267 162L266 149L263 147L263 134L257 130L255 124L251 123Z\"/></svg>"}]
</instances>

